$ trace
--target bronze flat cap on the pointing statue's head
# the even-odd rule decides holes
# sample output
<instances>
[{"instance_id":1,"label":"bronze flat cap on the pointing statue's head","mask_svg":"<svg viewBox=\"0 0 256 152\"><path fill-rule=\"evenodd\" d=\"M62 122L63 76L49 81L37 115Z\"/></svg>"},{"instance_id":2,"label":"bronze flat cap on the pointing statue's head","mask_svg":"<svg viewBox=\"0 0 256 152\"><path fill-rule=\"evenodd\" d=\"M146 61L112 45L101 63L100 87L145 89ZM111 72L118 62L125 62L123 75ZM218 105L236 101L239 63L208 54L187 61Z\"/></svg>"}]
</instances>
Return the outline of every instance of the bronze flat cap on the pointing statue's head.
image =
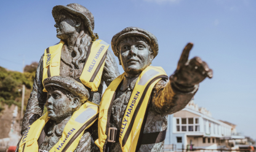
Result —
<instances>
[{"instance_id":1,"label":"bronze flat cap on the pointing statue's head","mask_svg":"<svg viewBox=\"0 0 256 152\"><path fill-rule=\"evenodd\" d=\"M146 31L145 29L135 27L125 28L121 32L118 32L116 35L113 36L111 40L111 48L114 51L114 55L118 56L118 44L122 39L134 36L144 37L146 40L148 40L154 57L158 55L158 39L156 39L156 37L151 32Z\"/></svg>"}]
</instances>

